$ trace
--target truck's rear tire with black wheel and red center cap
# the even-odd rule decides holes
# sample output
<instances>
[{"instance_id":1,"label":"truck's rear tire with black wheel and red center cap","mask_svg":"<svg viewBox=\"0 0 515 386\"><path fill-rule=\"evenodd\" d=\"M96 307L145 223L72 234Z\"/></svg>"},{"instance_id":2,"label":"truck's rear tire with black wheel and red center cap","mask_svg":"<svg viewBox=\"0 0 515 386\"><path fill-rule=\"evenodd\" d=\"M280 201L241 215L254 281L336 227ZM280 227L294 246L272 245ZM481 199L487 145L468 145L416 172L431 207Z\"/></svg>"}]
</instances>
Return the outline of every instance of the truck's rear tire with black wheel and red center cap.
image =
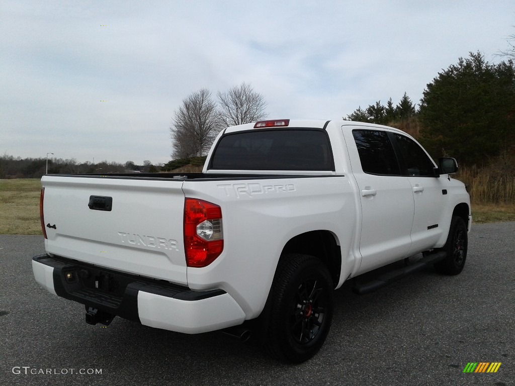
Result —
<instances>
[{"instance_id":1,"label":"truck's rear tire with black wheel and red center cap","mask_svg":"<svg viewBox=\"0 0 515 386\"><path fill-rule=\"evenodd\" d=\"M323 345L333 317L333 281L316 257L281 258L270 293L266 346L286 363L312 358Z\"/></svg>"}]
</instances>

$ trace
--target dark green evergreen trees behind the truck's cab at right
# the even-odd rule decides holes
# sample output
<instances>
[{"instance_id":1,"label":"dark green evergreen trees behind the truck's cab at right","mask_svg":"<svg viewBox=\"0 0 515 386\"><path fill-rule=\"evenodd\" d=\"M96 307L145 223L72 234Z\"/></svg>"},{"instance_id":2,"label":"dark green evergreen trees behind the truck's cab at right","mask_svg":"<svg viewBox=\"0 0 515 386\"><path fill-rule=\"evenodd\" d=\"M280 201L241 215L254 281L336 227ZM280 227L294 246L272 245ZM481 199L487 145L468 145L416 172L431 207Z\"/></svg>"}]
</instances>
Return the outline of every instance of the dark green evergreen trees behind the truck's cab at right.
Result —
<instances>
[{"instance_id":1,"label":"dark green evergreen trees behind the truck's cab at right","mask_svg":"<svg viewBox=\"0 0 515 386\"><path fill-rule=\"evenodd\" d=\"M498 64L470 52L426 85L417 109L404 93L393 107L381 101L358 107L344 119L403 129L406 121L435 158L453 156L463 165L487 165L515 154L515 68L512 57Z\"/></svg>"}]
</instances>

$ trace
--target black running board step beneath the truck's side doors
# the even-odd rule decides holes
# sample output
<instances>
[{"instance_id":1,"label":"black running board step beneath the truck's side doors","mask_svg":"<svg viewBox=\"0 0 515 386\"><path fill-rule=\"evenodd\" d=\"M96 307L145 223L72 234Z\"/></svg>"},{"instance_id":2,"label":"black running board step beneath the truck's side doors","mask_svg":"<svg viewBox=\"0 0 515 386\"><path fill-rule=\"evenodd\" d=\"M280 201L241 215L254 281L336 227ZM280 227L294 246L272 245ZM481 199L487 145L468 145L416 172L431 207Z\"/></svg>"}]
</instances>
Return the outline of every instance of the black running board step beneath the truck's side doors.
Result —
<instances>
[{"instance_id":1,"label":"black running board step beneath the truck's side doors","mask_svg":"<svg viewBox=\"0 0 515 386\"><path fill-rule=\"evenodd\" d=\"M414 262L414 264L411 264L409 266L406 266L404 268L398 268L394 269L392 271L383 273L379 275L374 280L371 280L368 283L363 283L356 285L352 288L352 290L357 293L358 295L364 295L370 292L374 292L380 288L383 288L387 286L390 283L395 282L396 280L399 280L410 273L414 273L417 271L420 271L422 268L435 264L435 262L438 262L440 260L443 260L447 256L447 253L441 251L436 253L428 254L424 257L422 257L420 260Z\"/></svg>"}]
</instances>

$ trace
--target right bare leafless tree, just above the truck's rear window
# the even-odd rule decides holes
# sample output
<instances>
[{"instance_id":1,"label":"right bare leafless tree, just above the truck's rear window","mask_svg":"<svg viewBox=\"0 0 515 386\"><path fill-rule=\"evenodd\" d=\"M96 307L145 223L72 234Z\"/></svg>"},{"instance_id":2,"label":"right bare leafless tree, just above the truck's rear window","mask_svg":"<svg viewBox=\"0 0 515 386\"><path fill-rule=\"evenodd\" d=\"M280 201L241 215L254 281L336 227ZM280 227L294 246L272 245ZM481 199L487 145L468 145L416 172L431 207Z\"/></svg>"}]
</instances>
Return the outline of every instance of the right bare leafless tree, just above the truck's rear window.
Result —
<instances>
[{"instance_id":1,"label":"right bare leafless tree, just above the truck's rear window","mask_svg":"<svg viewBox=\"0 0 515 386\"><path fill-rule=\"evenodd\" d=\"M268 116L263 95L243 82L225 93L218 92L219 114L224 127L247 124Z\"/></svg>"}]
</instances>

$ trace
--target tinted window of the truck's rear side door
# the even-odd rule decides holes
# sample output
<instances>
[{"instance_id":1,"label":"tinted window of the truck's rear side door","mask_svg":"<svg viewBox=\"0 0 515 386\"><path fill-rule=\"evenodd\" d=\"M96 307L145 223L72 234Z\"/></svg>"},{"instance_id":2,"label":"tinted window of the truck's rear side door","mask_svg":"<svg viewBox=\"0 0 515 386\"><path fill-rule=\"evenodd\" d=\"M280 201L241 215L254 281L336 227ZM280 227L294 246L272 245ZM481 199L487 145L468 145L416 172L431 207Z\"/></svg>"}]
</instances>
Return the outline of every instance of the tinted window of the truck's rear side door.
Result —
<instances>
[{"instance_id":1,"label":"tinted window of the truck's rear side door","mask_svg":"<svg viewBox=\"0 0 515 386\"><path fill-rule=\"evenodd\" d=\"M400 174L399 163L386 132L353 130L352 135L365 173L389 176Z\"/></svg>"}]
</instances>

